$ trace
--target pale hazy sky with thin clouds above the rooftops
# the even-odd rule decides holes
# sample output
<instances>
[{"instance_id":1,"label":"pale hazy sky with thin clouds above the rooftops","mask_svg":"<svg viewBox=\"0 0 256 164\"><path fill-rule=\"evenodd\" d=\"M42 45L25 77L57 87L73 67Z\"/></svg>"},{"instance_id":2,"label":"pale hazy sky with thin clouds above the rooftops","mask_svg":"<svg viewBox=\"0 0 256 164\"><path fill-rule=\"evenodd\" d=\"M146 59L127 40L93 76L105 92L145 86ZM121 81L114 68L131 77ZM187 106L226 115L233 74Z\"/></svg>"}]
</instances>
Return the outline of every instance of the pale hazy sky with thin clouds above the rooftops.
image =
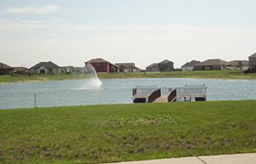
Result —
<instances>
[{"instance_id":1,"label":"pale hazy sky with thin clouds above the rooftops","mask_svg":"<svg viewBox=\"0 0 256 164\"><path fill-rule=\"evenodd\" d=\"M0 62L84 66L91 58L145 69L171 60L248 60L255 0L1 0Z\"/></svg>"}]
</instances>

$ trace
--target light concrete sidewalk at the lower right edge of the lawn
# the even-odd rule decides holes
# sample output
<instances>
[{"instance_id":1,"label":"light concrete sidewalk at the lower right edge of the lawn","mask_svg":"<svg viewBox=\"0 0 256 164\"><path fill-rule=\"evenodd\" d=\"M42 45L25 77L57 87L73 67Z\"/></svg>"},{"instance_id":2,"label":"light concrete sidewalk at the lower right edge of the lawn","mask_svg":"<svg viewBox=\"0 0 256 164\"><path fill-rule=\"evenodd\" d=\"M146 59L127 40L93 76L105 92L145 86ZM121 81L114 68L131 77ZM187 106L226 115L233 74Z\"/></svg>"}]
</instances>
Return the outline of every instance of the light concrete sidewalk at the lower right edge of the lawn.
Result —
<instances>
[{"instance_id":1,"label":"light concrete sidewalk at the lower right edge of the lawn","mask_svg":"<svg viewBox=\"0 0 256 164\"><path fill-rule=\"evenodd\" d=\"M144 160L136 162L109 164L256 164L256 153L202 157L181 157L162 160Z\"/></svg>"}]
</instances>

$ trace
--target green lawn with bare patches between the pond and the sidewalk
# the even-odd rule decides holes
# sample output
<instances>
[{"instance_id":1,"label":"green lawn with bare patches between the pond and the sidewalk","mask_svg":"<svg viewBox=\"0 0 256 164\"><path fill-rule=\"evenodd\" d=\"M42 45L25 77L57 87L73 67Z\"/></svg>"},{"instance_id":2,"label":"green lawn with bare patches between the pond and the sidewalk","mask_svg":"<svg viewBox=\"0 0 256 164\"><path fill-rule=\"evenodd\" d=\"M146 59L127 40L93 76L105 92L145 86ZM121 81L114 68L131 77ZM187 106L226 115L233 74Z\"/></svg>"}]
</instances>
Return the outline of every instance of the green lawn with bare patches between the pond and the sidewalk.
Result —
<instances>
[{"instance_id":1,"label":"green lawn with bare patches between the pond and the sidewalk","mask_svg":"<svg viewBox=\"0 0 256 164\"><path fill-rule=\"evenodd\" d=\"M0 163L109 163L256 152L256 101L0 111Z\"/></svg>"}]
</instances>

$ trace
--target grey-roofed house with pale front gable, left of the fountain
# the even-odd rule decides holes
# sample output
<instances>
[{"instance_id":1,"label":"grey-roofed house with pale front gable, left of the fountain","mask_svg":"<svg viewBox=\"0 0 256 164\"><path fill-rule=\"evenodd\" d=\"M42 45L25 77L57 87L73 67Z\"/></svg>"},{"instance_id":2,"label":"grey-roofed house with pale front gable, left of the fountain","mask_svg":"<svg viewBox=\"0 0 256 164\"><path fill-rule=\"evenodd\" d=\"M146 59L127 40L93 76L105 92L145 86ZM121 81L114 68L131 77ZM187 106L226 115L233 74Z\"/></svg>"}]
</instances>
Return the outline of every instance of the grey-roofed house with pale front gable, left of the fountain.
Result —
<instances>
[{"instance_id":1,"label":"grey-roofed house with pale front gable, left of the fountain","mask_svg":"<svg viewBox=\"0 0 256 164\"><path fill-rule=\"evenodd\" d=\"M31 74L61 74L61 67L48 61L37 63L35 66L32 66L29 71Z\"/></svg>"}]
</instances>

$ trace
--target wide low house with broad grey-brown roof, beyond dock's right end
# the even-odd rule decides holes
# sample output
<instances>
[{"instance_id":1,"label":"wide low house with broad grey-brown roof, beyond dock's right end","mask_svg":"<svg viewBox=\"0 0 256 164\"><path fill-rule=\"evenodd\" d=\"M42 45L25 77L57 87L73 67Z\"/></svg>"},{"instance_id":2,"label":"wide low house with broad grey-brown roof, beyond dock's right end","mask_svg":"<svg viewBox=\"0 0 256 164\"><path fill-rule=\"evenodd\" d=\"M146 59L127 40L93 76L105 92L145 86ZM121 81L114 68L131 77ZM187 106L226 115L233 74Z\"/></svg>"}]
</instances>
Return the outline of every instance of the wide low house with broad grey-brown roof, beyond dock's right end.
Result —
<instances>
[{"instance_id":1,"label":"wide low house with broad grey-brown roof, beyond dock's right end","mask_svg":"<svg viewBox=\"0 0 256 164\"><path fill-rule=\"evenodd\" d=\"M202 63L195 64L194 70L225 70L228 62L221 59L209 59Z\"/></svg>"}]
</instances>

